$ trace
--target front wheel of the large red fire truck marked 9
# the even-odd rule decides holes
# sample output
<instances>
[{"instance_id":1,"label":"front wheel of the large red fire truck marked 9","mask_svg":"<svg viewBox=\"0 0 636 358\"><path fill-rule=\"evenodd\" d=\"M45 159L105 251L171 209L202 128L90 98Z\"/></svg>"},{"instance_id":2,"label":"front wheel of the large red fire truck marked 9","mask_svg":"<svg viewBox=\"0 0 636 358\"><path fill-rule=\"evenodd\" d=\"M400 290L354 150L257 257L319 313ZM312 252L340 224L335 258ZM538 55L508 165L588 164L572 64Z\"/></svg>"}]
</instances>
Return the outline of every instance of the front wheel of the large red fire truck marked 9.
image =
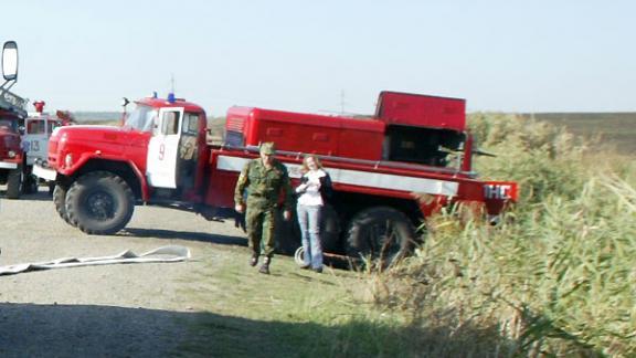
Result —
<instances>
[{"instance_id":1,"label":"front wheel of the large red fire truck marked 9","mask_svg":"<svg viewBox=\"0 0 636 358\"><path fill-rule=\"evenodd\" d=\"M107 171L89 172L66 193L71 222L87 234L108 235L124 229L135 210L132 190L120 177Z\"/></svg>"}]
</instances>

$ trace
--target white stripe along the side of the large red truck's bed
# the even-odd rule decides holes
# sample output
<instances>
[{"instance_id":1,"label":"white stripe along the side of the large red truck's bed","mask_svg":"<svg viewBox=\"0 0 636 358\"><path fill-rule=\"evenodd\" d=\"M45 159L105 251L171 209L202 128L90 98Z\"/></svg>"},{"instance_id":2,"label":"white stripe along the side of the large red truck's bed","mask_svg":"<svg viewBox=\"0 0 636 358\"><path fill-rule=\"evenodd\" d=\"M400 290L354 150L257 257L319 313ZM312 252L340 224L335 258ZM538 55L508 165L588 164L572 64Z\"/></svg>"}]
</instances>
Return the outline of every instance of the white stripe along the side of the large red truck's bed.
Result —
<instances>
[{"instance_id":1,"label":"white stripe along the side of the large red truck's bed","mask_svg":"<svg viewBox=\"0 0 636 358\"><path fill-rule=\"evenodd\" d=\"M216 169L227 171L241 171L245 164L251 159L219 156ZM300 165L285 164L289 171L289 177L300 178ZM333 182L391 190L402 190L412 192L422 192L430 194L454 197L457 194L459 183L455 181L414 178L404 176L394 176L380 172L369 172L361 170L326 168Z\"/></svg>"}]
</instances>

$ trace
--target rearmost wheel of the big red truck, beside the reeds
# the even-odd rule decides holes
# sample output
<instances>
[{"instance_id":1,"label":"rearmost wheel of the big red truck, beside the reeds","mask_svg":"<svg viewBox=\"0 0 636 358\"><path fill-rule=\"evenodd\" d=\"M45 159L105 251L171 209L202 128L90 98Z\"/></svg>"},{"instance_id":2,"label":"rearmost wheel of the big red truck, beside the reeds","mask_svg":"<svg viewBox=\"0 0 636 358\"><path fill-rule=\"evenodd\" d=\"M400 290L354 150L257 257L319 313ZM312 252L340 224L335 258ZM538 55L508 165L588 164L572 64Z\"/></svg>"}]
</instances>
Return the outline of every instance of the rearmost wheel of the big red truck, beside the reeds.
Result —
<instances>
[{"instance_id":1,"label":"rearmost wheel of the big red truck, beside the reeds","mask_svg":"<svg viewBox=\"0 0 636 358\"><path fill-rule=\"evenodd\" d=\"M357 213L347 230L347 254L352 266L371 263L384 270L409 255L414 248L415 229L402 213L389 207L375 207Z\"/></svg>"}]
</instances>

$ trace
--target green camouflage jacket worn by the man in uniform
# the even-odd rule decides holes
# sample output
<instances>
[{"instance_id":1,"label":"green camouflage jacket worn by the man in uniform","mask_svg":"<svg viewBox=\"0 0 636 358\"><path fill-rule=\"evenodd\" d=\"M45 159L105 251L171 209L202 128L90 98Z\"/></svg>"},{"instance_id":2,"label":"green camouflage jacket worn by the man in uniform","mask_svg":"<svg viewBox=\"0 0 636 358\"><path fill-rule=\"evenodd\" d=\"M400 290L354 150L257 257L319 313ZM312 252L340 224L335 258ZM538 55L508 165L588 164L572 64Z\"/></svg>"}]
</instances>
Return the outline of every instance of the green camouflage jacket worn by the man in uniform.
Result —
<instances>
[{"instance_id":1,"label":"green camouflage jacket worn by the man in uniform","mask_svg":"<svg viewBox=\"0 0 636 358\"><path fill-rule=\"evenodd\" d=\"M244 204L244 194L247 194L247 204L258 208L275 208L283 196L283 207L292 210L294 196L287 168L274 160L269 169L263 166L259 158L250 160L239 177L234 190L234 202Z\"/></svg>"}]
</instances>

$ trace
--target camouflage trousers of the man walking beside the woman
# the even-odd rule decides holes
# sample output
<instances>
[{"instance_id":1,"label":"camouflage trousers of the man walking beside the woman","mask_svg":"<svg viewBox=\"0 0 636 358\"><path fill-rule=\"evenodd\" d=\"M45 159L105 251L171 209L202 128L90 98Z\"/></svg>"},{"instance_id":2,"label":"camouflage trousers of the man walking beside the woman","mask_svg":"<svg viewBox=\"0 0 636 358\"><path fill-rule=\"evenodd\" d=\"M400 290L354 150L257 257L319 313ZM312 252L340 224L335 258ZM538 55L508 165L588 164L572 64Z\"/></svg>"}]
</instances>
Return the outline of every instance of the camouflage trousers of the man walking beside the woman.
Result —
<instances>
[{"instance_id":1,"label":"camouflage trousers of the man walking beside the woman","mask_svg":"<svg viewBox=\"0 0 636 358\"><path fill-rule=\"evenodd\" d=\"M265 256L272 257L275 250L276 209L247 206L245 228L247 229L247 243L253 254L261 255L263 253ZM263 251L261 245L263 245Z\"/></svg>"}]
</instances>

